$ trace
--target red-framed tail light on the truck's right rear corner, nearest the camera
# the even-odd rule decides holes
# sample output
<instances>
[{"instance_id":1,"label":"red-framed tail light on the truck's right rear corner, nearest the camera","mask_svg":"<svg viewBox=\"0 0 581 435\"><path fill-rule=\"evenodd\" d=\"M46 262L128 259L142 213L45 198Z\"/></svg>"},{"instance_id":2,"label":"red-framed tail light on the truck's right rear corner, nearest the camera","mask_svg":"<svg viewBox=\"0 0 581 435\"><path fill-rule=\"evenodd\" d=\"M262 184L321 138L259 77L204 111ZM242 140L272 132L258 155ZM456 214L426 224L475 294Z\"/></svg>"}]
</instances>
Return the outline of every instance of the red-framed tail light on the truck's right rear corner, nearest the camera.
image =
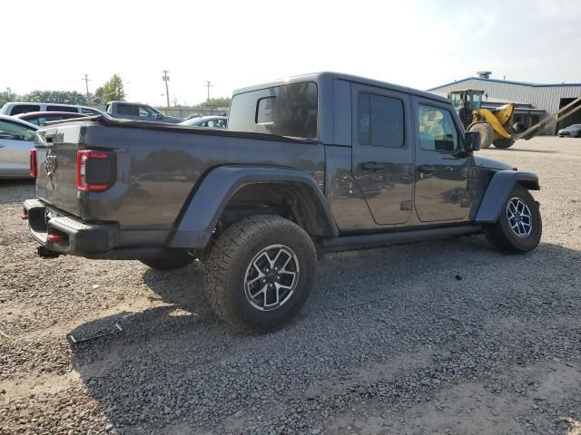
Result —
<instances>
[{"instance_id":1,"label":"red-framed tail light on the truck's right rear corner, nearest the camera","mask_svg":"<svg viewBox=\"0 0 581 435\"><path fill-rule=\"evenodd\" d=\"M84 192L103 192L113 181L113 154L80 150L76 153L76 188Z\"/></svg>"}]
</instances>

